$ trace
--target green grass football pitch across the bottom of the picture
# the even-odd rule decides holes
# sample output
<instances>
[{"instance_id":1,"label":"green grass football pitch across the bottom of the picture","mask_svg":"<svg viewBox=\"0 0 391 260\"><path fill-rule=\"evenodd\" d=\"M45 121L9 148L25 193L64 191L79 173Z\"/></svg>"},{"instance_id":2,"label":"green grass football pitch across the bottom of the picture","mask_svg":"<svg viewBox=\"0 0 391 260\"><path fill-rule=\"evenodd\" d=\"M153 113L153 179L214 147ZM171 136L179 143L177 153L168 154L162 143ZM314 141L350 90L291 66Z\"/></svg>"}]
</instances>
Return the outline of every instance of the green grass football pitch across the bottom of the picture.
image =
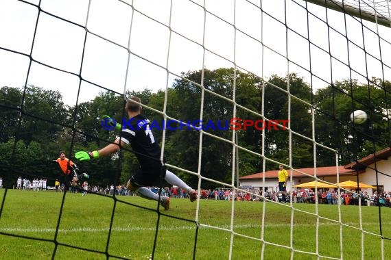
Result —
<instances>
[{"instance_id":1,"label":"green grass football pitch across the bottom of the picture","mask_svg":"<svg viewBox=\"0 0 391 260\"><path fill-rule=\"evenodd\" d=\"M318 259L318 252L334 259L377 260L380 232L386 237L384 259L391 259L390 208L362 207L361 229L357 206L341 207L341 225L337 205L319 205L318 218L315 205L295 204L292 211L289 204L268 202L263 223L261 202L235 202L233 210L230 201L200 200L196 211L197 203L171 198L171 209L159 215L156 202L132 196L114 200L67 193L63 200L57 192L4 194L0 190L0 259L150 259L157 224L154 259L193 259L194 253L195 259L261 259L263 250L263 259L292 254L293 259Z\"/></svg>"}]
</instances>

